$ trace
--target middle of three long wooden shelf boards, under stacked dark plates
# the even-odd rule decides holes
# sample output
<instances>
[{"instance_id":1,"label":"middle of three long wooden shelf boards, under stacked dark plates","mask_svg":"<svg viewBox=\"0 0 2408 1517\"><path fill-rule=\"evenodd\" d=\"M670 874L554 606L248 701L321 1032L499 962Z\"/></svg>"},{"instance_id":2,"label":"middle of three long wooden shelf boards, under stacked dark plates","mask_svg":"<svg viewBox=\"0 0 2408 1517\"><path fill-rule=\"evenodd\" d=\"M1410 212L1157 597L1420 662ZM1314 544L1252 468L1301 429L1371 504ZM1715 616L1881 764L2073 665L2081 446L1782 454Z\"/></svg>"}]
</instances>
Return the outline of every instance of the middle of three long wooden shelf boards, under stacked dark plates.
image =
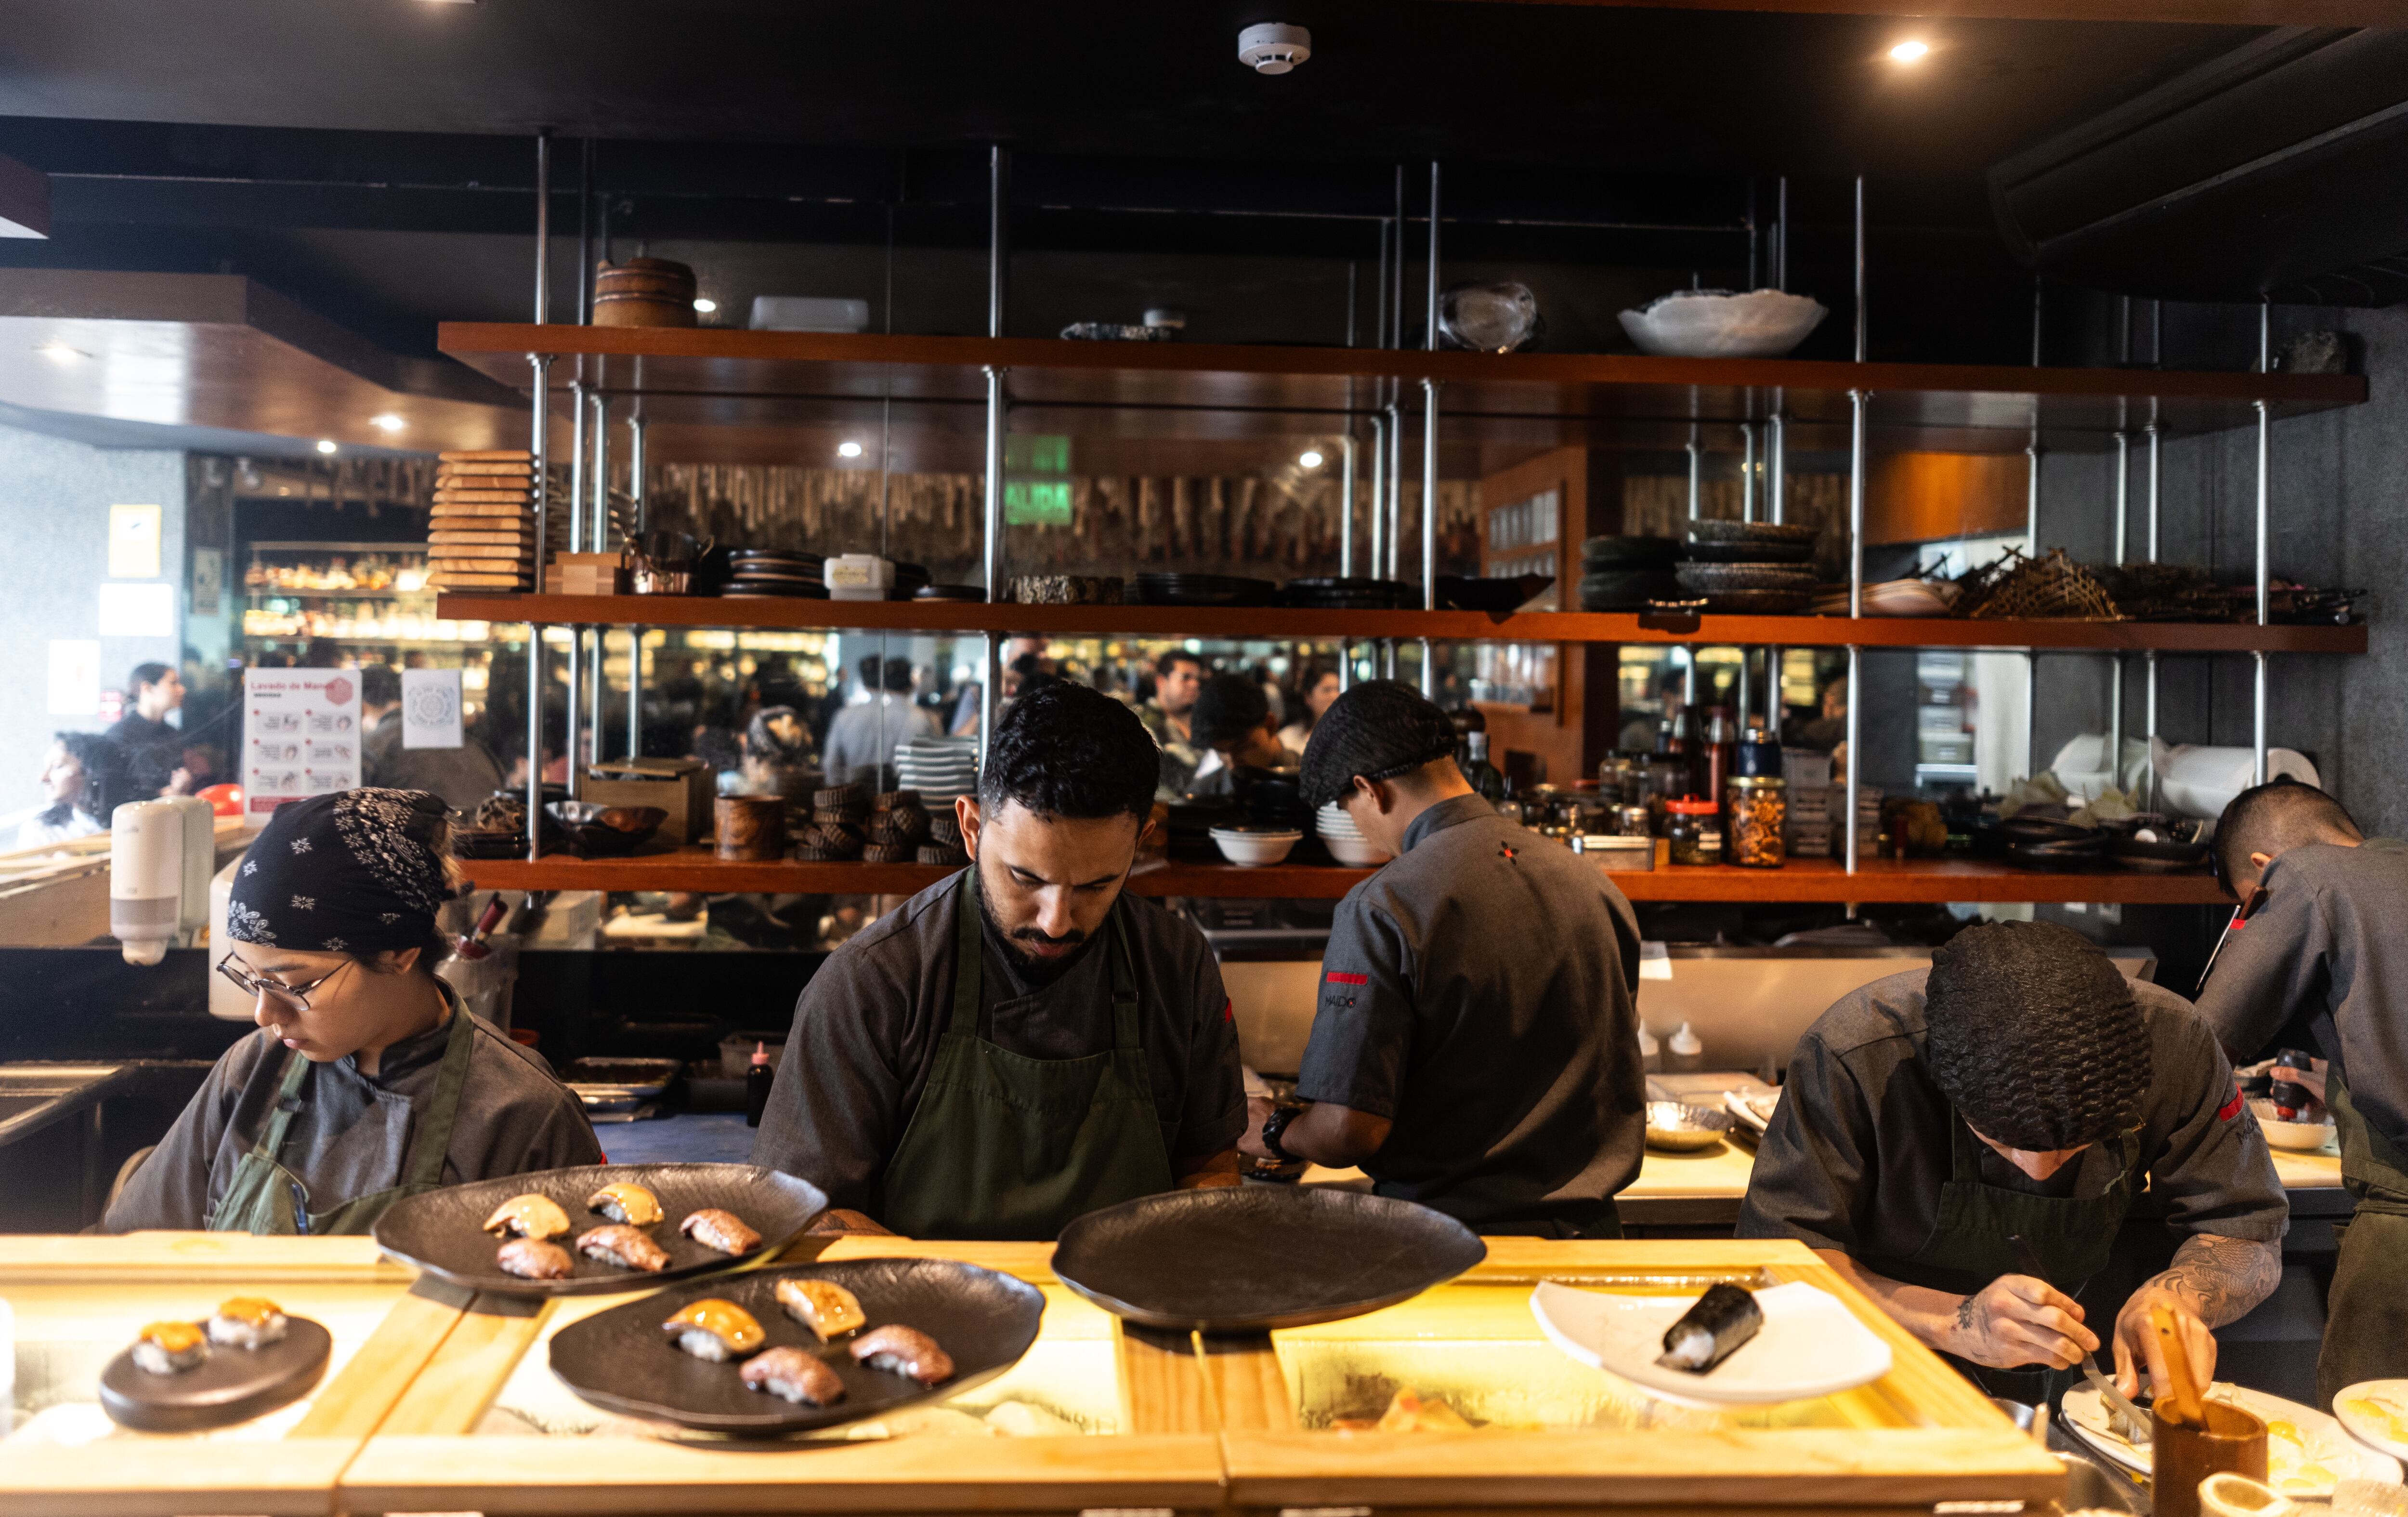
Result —
<instances>
[{"instance_id":1,"label":"middle of three long wooden shelf boards, under stacked dark plates","mask_svg":"<svg viewBox=\"0 0 2408 1517\"><path fill-rule=\"evenodd\" d=\"M710 595L443 595L450 621L732 626L802 631L1045 633L1127 638L1433 638L1445 643L1690 643L1787 648L2064 648L2160 653L2365 653L2365 626L2239 621L1958 621L1914 616L1698 616L1599 612L1312 612L1293 607L1021 607L917 600Z\"/></svg>"}]
</instances>

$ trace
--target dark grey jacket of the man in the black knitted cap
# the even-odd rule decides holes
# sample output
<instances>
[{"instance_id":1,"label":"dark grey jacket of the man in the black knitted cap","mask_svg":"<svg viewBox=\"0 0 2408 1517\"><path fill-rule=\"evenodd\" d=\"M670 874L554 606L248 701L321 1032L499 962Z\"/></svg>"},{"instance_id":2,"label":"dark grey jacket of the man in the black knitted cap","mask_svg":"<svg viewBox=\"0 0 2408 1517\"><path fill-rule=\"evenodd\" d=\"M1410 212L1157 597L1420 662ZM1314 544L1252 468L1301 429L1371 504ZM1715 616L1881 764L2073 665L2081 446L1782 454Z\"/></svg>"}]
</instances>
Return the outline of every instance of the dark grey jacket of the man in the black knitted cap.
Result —
<instances>
[{"instance_id":1,"label":"dark grey jacket of the man in the black knitted cap","mask_svg":"<svg viewBox=\"0 0 2408 1517\"><path fill-rule=\"evenodd\" d=\"M1796 1238L1876 1274L1929 1242L1953 1117L1924 1067L1929 978L1919 968L1873 980L1799 1038L1739 1209L1741 1238ZM2162 1216L2177 1233L2283 1238L2290 1199L2266 1134L2232 1093L2215 1035L2172 990L2133 982L2131 992L2148 1023L2153 1072L2138 1137L2148 1194L2133 1199L2133 1214ZM2083 1149L2049 1180L2032 1180L1987 1144L1979 1161L1987 1185L2028 1194L2097 1197L2114 1182L2107 1144ZM2020 1271L2015 1259L1999 1259L1999 1274Z\"/></svg>"}]
</instances>

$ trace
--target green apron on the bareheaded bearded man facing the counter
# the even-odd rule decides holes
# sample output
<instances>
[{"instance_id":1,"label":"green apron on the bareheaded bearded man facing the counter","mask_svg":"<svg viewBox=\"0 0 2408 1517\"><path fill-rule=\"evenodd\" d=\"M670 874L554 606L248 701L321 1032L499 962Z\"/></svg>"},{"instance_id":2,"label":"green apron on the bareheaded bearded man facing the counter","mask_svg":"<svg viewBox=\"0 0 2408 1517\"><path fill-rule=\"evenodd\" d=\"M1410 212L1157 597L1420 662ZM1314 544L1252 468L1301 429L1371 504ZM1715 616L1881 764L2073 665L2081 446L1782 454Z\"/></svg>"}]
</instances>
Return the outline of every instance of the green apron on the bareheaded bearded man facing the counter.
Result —
<instances>
[{"instance_id":1,"label":"green apron on the bareheaded bearded man facing the counter","mask_svg":"<svg viewBox=\"0 0 2408 1517\"><path fill-rule=\"evenodd\" d=\"M1120 903L1110 917L1112 1047L1084 1059L1031 1059L978 1035L975 864L961 872L954 913L954 1019L886 1163L879 1221L905 1238L1050 1240L1074 1216L1170 1190Z\"/></svg>"}]
</instances>

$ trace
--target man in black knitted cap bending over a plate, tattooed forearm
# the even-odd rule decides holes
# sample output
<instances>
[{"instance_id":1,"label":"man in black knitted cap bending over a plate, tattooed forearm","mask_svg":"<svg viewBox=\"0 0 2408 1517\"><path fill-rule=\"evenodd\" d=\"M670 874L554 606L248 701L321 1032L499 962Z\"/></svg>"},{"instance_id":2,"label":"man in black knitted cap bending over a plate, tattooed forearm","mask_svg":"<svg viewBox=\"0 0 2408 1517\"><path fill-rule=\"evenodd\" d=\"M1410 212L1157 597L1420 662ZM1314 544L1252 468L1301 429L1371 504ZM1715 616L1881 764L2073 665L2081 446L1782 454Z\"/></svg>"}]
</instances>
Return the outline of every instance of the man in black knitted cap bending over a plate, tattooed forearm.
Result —
<instances>
[{"instance_id":1,"label":"man in black knitted cap bending over a plate, tattooed forearm","mask_svg":"<svg viewBox=\"0 0 2408 1517\"><path fill-rule=\"evenodd\" d=\"M2109 1327L2076 1298L2143 1185L2182 1245ZM1994 922L1806 1028L1739 1235L1806 1242L1991 1394L2044 1401L2109 1336L2126 1394L2143 1363L2167 1387L2153 1305L2206 1389L2211 1329L2273 1291L2288 1218L2199 1014L2078 932Z\"/></svg>"}]
</instances>

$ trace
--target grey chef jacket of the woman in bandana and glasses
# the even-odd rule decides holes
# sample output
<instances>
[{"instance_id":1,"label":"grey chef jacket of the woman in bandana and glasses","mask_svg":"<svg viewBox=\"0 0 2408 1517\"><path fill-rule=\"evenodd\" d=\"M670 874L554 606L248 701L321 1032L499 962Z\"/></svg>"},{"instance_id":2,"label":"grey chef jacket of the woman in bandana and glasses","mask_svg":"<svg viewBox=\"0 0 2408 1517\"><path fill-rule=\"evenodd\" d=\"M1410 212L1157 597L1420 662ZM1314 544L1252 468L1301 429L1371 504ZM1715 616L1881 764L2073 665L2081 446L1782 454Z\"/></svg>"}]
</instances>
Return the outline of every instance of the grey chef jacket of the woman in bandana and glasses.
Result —
<instances>
[{"instance_id":1,"label":"grey chef jacket of the woman in bandana and glasses","mask_svg":"<svg viewBox=\"0 0 2408 1517\"><path fill-rule=\"evenodd\" d=\"M450 999L450 987L443 994ZM453 1016L465 1016L458 999ZM448 1045L450 1023L385 1047L373 1076L359 1072L359 1055L311 1064L301 1110L284 1129L277 1156L308 1187L311 1211L332 1211L402 1182ZM275 1112L284 1052L277 1035L260 1028L219 1055L159 1149L125 1182L101 1230L205 1226L234 1180L234 1165L260 1141ZM443 1153L443 1182L573 1163L602 1163L585 1108L532 1052L479 1019L460 1115Z\"/></svg>"}]
</instances>

